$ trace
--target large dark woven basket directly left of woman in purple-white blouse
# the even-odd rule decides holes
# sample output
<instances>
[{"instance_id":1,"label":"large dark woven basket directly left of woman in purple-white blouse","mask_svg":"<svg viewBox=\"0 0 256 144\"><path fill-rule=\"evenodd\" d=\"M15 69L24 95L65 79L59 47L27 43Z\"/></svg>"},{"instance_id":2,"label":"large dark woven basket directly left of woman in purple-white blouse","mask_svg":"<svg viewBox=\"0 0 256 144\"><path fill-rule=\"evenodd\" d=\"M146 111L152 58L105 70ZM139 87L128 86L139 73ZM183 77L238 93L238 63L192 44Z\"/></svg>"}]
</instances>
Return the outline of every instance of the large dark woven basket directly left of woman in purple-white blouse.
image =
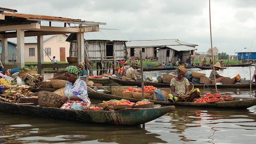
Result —
<instances>
[{"instance_id":1,"label":"large dark woven basket directly left of woman in purple-white blouse","mask_svg":"<svg viewBox=\"0 0 256 144\"><path fill-rule=\"evenodd\" d=\"M42 107L60 108L59 104L60 95L53 92L40 91L38 92L38 103Z\"/></svg>"}]
</instances>

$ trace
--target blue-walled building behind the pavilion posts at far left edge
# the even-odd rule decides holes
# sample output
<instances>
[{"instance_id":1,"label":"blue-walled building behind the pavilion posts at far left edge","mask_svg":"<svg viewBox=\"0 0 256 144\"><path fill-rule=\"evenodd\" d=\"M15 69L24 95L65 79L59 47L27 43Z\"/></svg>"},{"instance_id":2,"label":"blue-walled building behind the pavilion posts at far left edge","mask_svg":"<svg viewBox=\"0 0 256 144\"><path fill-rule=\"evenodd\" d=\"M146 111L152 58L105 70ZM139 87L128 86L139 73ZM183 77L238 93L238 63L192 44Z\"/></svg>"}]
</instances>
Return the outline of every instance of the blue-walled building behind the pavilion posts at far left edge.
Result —
<instances>
[{"instance_id":1,"label":"blue-walled building behind the pavilion posts at far left edge","mask_svg":"<svg viewBox=\"0 0 256 144\"><path fill-rule=\"evenodd\" d=\"M16 53L17 44L9 42L7 44L8 48L8 61L16 62L17 61L17 53ZM2 56L2 40L0 39L0 60Z\"/></svg>"}]
</instances>

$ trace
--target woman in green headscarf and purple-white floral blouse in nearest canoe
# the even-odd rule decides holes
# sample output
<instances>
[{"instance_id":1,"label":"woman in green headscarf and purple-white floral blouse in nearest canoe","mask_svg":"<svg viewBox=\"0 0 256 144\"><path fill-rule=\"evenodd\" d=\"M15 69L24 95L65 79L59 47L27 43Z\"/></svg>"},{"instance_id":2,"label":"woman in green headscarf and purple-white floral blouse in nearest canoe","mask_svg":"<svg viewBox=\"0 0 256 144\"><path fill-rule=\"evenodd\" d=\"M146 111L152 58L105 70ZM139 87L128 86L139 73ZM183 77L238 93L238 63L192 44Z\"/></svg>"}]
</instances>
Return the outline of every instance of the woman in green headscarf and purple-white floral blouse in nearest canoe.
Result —
<instances>
[{"instance_id":1,"label":"woman in green headscarf and purple-white floral blouse in nearest canoe","mask_svg":"<svg viewBox=\"0 0 256 144\"><path fill-rule=\"evenodd\" d=\"M64 96L59 100L59 103L63 104L61 108L83 109L82 106L90 107L91 101L88 98L86 83L77 78L81 72L80 68L68 66L66 70L68 82L65 85Z\"/></svg>"}]
</instances>

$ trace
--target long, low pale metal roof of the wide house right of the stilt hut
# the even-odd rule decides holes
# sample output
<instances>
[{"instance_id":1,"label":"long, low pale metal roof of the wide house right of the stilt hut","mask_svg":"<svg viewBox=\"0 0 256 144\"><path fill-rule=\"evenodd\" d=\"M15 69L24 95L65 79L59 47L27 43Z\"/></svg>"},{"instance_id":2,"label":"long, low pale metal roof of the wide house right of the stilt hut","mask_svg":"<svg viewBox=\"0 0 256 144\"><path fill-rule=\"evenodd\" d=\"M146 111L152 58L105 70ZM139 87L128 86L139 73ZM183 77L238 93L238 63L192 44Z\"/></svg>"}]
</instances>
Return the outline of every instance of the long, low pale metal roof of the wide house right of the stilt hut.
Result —
<instances>
[{"instance_id":1,"label":"long, low pale metal roof of the wide house right of the stilt hut","mask_svg":"<svg viewBox=\"0 0 256 144\"><path fill-rule=\"evenodd\" d=\"M129 41L126 43L127 47L154 47L154 46L165 46L165 45L191 45L198 46L197 44L190 44L181 42L178 39L161 39L161 40L136 40Z\"/></svg>"}]
</instances>

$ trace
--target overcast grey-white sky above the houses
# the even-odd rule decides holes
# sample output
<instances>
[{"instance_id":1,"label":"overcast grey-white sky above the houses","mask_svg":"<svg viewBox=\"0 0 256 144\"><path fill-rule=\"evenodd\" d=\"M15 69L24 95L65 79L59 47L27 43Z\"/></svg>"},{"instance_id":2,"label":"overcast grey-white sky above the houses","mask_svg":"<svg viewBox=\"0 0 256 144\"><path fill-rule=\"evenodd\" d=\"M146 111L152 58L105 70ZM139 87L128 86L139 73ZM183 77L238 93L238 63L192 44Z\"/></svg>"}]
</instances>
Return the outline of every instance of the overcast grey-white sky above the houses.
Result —
<instances>
[{"instance_id":1,"label":"overcast grey-white sky above the houses","mask_svg":"<svg viewBox=\"0 0 256 144\"><path fill-rule=\"evenodd\" d=\"M211 47L208 0L1 0L20 13L106 22L130 40L179 39ZM219 52L256 49L256 1L211 0L212 42ZM54 24L52 24L54 26ZM55 24L58 25L58 24Z\"/></svg>"}]
</instances>

